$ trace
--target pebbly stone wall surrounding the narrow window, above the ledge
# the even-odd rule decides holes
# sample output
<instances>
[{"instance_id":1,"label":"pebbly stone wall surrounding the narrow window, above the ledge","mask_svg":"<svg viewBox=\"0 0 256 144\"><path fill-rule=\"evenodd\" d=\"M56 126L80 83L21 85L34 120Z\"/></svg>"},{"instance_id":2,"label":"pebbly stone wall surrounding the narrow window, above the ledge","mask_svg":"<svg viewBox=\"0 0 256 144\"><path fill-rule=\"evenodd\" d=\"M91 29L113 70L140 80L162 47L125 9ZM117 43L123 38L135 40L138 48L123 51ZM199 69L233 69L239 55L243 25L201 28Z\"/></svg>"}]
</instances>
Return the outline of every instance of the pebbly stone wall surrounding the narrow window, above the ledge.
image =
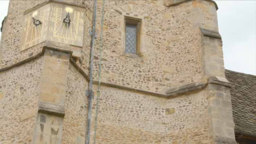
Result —
<instances>
[{"instance_id":1,"label":"pebbly stone wall surrounding the narrow window, above the ledge","mask_svg":"<svg viewBox=\"0 0 256 144\"><path fill-rule=\"evenodd\" d=\"M106 1L105 9L103 82L165 93L172 87L202 79L203 53L199 28L218 32L213 2L188 1L166 7L165 1ZM100 10L97 16L101 16ZM142 21L140 56L130 57L124 53L124 16ZM97 29L100 31L100 19ZM100 39L97 39L95 79L99 45Z\"/></svg>"}]
</instances>

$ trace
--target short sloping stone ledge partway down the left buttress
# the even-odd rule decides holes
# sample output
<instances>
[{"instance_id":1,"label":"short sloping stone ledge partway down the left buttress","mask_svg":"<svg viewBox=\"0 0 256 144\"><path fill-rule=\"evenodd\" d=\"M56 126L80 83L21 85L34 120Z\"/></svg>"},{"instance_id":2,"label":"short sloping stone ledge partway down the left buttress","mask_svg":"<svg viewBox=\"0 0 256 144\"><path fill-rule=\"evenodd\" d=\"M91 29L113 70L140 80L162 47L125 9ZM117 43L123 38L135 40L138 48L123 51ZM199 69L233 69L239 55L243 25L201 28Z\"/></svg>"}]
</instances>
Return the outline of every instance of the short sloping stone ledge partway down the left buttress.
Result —
<instances>
[{"instance_id":1,"label":"short sloping stone ledge partway down the left buttress","mask_svg":"<svg viewBox=\"0 0 256 144\"><path fill-rule=\"evenodd\" d=\"M39 101L38 112L55 116L65 116L65 108L63 105L50 104L44 101Z\"/></svg>"}]
</instances>

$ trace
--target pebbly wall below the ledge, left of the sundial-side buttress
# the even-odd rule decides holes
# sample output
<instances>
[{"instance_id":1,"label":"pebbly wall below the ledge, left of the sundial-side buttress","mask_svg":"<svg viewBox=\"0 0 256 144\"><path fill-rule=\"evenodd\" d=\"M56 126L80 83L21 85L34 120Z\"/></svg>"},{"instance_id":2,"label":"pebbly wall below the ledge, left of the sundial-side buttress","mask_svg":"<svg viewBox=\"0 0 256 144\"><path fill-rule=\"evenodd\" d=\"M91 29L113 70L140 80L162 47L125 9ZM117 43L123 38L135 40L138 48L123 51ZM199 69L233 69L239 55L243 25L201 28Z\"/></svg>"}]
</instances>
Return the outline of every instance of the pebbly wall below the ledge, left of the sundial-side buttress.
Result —
<instances>
[{"instance_id":1,"label":"pebbly wall below the ledge, left of the sundial-side buttress","mask_svg":"<svg viewBox=\"0 0 256 144\"><path fill-rule=\"evenodd\" d=\"M0 72L0 143L31 143L43 57Z\"/></svg>"}]
</instances>

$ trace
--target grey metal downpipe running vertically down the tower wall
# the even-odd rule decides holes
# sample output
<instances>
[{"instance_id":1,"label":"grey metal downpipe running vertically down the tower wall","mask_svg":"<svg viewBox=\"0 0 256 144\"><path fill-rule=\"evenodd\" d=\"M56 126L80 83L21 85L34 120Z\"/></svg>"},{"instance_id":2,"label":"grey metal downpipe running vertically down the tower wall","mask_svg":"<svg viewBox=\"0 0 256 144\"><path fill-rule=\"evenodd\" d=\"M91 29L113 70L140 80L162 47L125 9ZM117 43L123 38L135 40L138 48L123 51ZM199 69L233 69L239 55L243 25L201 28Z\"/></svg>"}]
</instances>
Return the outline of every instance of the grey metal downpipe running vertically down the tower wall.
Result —
<instances>
[{"instance_id":1,"label":"grey metal downpipe running vertically down the tower wall","mask_svg":"<svg viewBox=\"0 0 256 144\"><path fill-rule=\"evenodd\" d=\"M96 27L96 9L97 9L97 0L94 0L94 16L92 19L92 32L91 32L91 55L90 55L90 81L88 89L88 116L87 116L87 130L86 130L86 140L85 144L90 143L90 129L91 129L91 109L92 109L92 73L94 69L94 41L95 41L95 27Z\"/></svg>"}]
</instances>

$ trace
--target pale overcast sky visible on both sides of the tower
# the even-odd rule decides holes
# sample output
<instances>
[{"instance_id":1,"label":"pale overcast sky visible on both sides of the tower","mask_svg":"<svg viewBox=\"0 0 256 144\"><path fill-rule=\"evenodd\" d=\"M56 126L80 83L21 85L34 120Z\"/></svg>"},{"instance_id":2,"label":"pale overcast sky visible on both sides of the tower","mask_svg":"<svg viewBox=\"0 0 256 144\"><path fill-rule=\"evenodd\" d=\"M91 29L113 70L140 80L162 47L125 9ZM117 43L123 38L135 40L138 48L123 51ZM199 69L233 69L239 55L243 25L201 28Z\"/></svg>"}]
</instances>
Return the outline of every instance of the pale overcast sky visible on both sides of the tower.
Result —
<instances>
[{"instance_id":1,"label":"pale overcast sky visible on both sides of the tower","mask_svg":"<svg viewBox=\"0 0 256 144\"><path fill-rule=\"evenodd\" d=\"M256 0L215 1L219 7L225 68L256 75ZM8 4L9 1L0 0L1 25Z\"/></svg>"}]
</instances>

